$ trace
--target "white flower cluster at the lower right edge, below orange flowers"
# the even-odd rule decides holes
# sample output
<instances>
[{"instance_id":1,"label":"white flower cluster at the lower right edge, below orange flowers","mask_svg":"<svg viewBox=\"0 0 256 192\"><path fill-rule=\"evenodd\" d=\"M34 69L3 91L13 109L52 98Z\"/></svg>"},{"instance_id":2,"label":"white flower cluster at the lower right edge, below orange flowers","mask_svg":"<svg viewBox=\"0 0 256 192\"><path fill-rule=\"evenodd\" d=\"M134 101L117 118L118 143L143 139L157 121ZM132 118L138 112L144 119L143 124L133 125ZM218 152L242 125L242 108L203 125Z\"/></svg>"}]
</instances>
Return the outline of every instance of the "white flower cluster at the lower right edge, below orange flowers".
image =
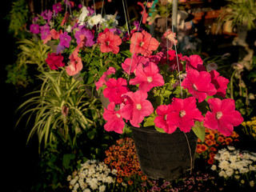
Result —
<instances>
[{"instance_id":1,"label":"white flower cluster at the lower right edge, below orange flowers","mask_svg":"<svg viewBox=\"0 0 256 192\"><path fill-rule=\"evenodd\" d=\"M228 149L219 150L214 159L211 170L217 171L220 177L255 189L256 153L228 146Z\"/></svg>"}]
</instances>

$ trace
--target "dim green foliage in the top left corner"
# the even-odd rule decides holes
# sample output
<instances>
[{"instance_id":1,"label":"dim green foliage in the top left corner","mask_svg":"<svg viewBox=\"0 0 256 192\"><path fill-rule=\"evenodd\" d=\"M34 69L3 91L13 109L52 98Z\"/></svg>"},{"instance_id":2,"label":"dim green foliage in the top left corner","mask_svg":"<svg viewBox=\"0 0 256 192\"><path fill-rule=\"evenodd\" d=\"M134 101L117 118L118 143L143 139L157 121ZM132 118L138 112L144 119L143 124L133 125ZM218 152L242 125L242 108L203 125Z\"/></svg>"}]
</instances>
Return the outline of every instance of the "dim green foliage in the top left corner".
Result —
<instances>
[{"instance_id":1,"label":"dim green foliage in the top left corner","mask_svg":"<svg viewBox=\"0 0 256 192\"><path fill-rule=\"evenodd\" d=\"M15 38L28 38L30 36L25 30L28 15L29 8L25 0L13 2L6 18L10 20L9 33L13 34Z\"/></svg>"}]
</instances>

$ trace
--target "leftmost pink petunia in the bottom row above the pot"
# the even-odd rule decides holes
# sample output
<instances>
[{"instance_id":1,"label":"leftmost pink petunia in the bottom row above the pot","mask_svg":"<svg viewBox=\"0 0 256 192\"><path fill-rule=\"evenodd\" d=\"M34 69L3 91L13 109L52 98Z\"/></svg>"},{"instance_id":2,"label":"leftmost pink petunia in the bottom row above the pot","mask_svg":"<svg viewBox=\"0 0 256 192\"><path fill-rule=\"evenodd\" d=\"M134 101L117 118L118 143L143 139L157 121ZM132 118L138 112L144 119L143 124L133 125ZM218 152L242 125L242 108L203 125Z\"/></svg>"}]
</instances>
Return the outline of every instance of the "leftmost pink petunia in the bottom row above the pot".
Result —
<instances>
[{"instance_id":1,"label":"leftmost pink petunia in the bottom row above the pot","mask_svg":"<svg viewBox=\"0 0 256 192\"><path fill-rule=\"evenodd\" d=\"M110 102L107 109L104 109L103 118L107 121L104 125L106 131L113 131L122 134L125 122L122 119L120 111L114 110L114 102Z\"/></svg>"}]
</instances>

